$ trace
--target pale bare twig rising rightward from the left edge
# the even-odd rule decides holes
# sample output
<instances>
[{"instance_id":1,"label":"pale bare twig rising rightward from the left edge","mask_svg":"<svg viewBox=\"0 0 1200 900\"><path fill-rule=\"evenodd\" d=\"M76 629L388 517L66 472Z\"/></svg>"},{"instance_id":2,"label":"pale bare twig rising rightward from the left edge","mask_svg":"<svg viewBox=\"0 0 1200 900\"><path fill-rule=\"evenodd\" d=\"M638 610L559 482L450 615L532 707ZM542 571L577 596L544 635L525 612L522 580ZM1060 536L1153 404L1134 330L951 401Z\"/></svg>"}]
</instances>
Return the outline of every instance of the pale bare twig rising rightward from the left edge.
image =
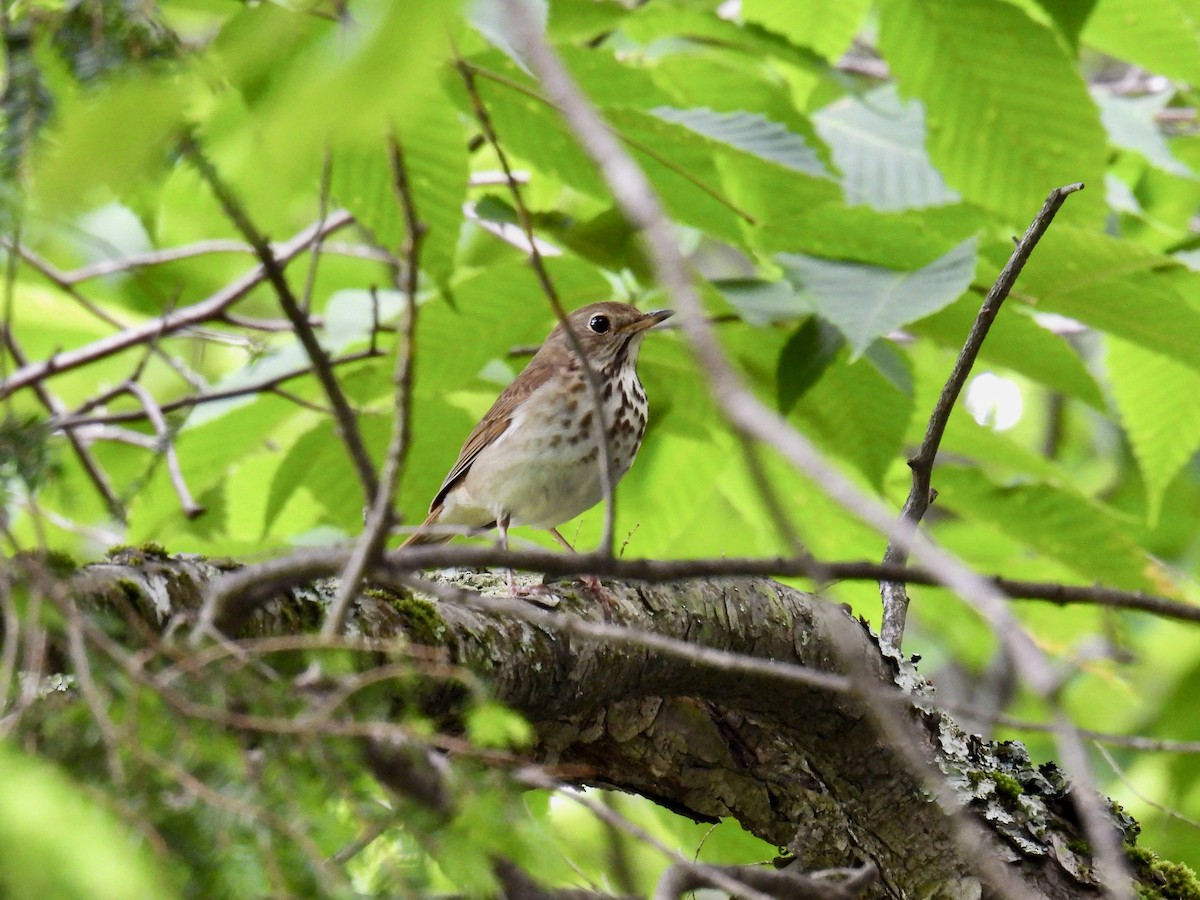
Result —
<instances>
[{"instance_id":1,"label":"pale bare twig rising rightward from the left edge","mask_svg":"<svg viewBox=\"0 0 1200 900\"><path fill-rule=\"evenodd\" d=\"M274 257L278 264L287 263L317 239L318 235L330 234L340 228L344 228L353 220L349 212L335 212L329 218L317 222L294 239L283 245L278 254ZM218 318L221 313L248 294L266 277L265 266L258 266L253 271L242 276L238 281L228 284L206 300L202 300L192 306L185 306L174 312L167 313L156 319L150 319L140 325L134 325L109 337L92 341L89 344L78 347L65 353L56 353L49 359L20 366L4 380L0 380L0 400L7 397L20 388L28 388L35 382L50 378L62 372L70 372L86 366L96 360L115 355L138 344L157 341L167 335L173 335L186 328L198 325Z\"/></svg>"}]
</instances>

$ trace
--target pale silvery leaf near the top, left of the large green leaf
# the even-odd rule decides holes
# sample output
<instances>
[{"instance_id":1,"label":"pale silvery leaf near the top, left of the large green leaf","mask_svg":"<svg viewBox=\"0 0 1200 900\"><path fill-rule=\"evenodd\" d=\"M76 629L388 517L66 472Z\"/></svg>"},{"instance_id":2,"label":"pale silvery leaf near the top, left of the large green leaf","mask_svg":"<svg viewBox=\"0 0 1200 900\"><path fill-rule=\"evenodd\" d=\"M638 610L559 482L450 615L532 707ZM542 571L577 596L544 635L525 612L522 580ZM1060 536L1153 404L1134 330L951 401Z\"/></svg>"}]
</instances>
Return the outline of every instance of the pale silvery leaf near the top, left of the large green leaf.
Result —
<instances>
[{"instance_id":1,"label":"pale silvery leaf near the top, left of the large green leaf","mask_svg":"<svg viewBox=\"0 0 1200 900\"><path fill-rule=\"evenodd\" d=\"M894 85L844 97L814 122L841 169L846 203L904 210L959 200L929 161L924 108L900 100Z\"/></svg>"}]
</instances>

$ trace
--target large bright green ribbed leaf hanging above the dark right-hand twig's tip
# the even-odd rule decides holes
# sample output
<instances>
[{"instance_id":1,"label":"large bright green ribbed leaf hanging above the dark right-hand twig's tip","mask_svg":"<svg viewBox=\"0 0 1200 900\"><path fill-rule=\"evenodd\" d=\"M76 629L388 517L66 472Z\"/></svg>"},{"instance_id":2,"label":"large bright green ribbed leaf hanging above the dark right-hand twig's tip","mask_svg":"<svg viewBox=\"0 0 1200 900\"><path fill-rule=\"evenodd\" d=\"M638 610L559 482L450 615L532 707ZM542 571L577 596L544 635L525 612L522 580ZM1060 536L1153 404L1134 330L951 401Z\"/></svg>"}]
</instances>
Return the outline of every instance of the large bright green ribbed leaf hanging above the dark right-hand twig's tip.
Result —
<instances>
[{"instance_id":1,"label":"large bright green ribbed leaf hanging above the dark right-hand twig's tip","mask_svg":"<svg viewBox=\"0 0 1200 900\"><path fill-rule=\"evenodd\" d=\"M925 104L930 156L965 198L1024 226L1050 188L1103 181L1099 115L1049 29L1002 0L881 8L883 56L901 95ZM1062 215L1098 222L1103 198L1073 197Z\"/></svg>"}]
</instances>

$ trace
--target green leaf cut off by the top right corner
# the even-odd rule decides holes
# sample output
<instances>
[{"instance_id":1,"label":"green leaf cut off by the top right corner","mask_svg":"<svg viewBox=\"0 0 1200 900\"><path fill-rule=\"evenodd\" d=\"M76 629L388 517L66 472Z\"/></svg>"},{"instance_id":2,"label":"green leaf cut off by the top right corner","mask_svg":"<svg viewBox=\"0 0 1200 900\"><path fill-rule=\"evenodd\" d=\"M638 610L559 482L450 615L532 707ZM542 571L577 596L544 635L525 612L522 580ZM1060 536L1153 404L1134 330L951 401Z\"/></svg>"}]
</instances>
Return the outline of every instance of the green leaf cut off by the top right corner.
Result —
<instances>
[{"instance_id":1,"label":"green leaf cut off by the top right corner","mask_svg":"<svg viewBox=\"0 0 1200 900\"><path fill-rule=\"evenodd\" d=\"M1193 0L1104 0L1084 43L1171 78L1200 82L1200 14Z\"/></svg>"}]
</instances>

